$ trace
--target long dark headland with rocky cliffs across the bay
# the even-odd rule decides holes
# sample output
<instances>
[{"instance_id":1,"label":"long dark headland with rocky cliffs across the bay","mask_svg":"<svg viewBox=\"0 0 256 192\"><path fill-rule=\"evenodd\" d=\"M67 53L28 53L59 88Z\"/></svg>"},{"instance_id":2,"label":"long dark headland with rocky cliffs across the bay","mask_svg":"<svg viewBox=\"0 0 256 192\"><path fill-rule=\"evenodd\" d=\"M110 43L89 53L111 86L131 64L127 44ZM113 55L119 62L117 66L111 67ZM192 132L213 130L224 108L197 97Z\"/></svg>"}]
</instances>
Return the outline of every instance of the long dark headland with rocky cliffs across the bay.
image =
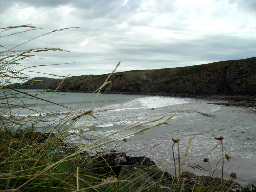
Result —
<instances>
[{"instance_id":1,"label":"long dark headland with rocky cliffs across the bay","mask_svg":"<svg viewBox=\"0 0 256 192\"><path fill-rule=\"evenodd\" d=\"M66 79L60 89L94 91L105 75L82 75ZM38 79L38 77L36 77ZM36 79L34 78L34 79ZM42 78L39 85L53 89L61 79ZM256 95L256 57L179 68L134 70L114 73L102 92L141 92L196 95ZM35 84L35 82L32 82ZM27 82L31 84L31 81ZM26 88L35 89L35 85Z\"/></svg>"}]
</instances>

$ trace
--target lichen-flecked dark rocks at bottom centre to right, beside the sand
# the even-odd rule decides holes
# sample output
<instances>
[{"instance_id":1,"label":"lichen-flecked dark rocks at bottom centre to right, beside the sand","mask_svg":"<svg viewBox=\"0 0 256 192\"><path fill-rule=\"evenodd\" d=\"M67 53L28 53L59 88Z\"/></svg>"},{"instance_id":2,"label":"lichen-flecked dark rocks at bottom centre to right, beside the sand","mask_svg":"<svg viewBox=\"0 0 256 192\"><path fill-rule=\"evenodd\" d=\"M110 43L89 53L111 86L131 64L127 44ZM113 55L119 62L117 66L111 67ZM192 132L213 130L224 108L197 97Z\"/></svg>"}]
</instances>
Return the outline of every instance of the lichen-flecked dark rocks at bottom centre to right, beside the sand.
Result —
<instances>
[{"instance_id":1,"label":"lichen-flecked dark rocks at bottom centre to right, beside the sand","mask_svg":"<svg viewBox=\"0 0 256 192\"><path fill-rule=\"evenodd\" d=\"M98 158L94 159L97 156ZM170 191L170 188L177 188L177 178L168 172L161 171L148 157L132 157L119 151L111 151L107 154L90 156L90 159L93 159L90 164L94 167L92 169L94 174L111 174L112 177L118 180L133 181L132 189L134 190L141 186L150 188L149 191ZM220 178L196 176L191 172L182 172L181 183L183 182L185 184L183 191L193 191L195 186L204 190L212 190L214 188L216 191L221 191L223 185L227 190L230 188L230 191L256 191L254 188L252 190L243 188L234 182L232 178L221 182Z\"/></svg>"}]
</instances>

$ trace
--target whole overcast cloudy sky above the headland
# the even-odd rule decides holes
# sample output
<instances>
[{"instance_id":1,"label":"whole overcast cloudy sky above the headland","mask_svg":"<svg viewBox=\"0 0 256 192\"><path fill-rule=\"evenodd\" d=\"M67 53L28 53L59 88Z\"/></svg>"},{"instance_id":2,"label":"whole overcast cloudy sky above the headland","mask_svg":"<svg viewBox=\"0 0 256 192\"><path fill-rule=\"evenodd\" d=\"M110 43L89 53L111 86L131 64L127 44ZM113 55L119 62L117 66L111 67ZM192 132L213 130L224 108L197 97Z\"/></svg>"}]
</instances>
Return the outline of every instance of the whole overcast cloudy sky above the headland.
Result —
<instances>
[{"instance_id":1,"label":"whole overcast cloudy sky above the headland","mask_svg":"<svg viewBox=\"0 0 256 192\"><path fill-rule=\"evenodd\" d=\"M0 0L0 38L15 50L61 48L22 61L57 75L199 65L256 56L256 0ZM0 33L5 36L31 28ZM0 51L5 50L1 48ZM66 63L66 64L65 64ZM62 64L62 65L52 65ZM27 72L31 77L45 76Z\"/></svg>"}]
</instances>

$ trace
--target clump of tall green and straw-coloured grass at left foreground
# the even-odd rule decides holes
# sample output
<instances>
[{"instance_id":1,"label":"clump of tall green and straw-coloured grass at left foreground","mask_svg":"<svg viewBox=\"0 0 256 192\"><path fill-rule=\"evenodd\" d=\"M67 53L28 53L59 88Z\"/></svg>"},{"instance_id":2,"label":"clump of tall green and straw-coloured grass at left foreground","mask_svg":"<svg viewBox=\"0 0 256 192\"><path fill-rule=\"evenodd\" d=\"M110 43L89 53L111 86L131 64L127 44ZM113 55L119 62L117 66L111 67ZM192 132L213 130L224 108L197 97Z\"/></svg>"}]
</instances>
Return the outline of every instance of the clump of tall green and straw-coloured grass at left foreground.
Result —
<instances>
[{"instance_id":1,"label":"clump of tall green and straw-coloured grass at left foreground","mask_svg":"<svg viewBox=\"0 0 256 192\"><path fill-rule=\"evenodd\" d=\"M2 28L2 29L12 29L12 28L19 28L19 27L33 27L33 26L29 26L29 25L25 25L25 26L16 26L16 27L7 27L7 28ZM4 30L4 31L6 31ZM63 30L63 29L61 29ZM54 30L52 32L56 32L56 31L60 31L60 30ZM3 31L2 31L3 32ZM25 32L25 31L23 31ZM50 32L50 33L52 33ZM16 34L16 33L13 33ZM49 34L49 33L47 33ZM46 35L46 34L44 34ZM43 36L43 35L41 35ZM40 36L38 36L40 37ZM36 38L38 38L36 37ZM35 38L32 38L31 40L33 40ZM28 40L28 41L31 41ZM26 42L28 42L26 41ZM26 43L24 42L24 43ZM79 118L83 117L83 116L87 116L86 117L86 122L89 116L95 117L93 115L93 113L95 113L95 109L97 109L98 105L94 105L95 99L97 97L97 95L99 94L100 90L102 89L102 87L104 87L106 84L109 83L108 79L109 77L112 75L112 73L116 70L116 68L118 67L118 65L116 66L116 68L114 69L114 71L108 76L108 78L106 79L106 81L104 82L104 84L102 86L99 87L99 89L97 89L95 92L97 92L96 97L94 98L91 107L87 110L82 112L80 115L78 116L72 116L72 112L73 111L77 111L77 106L76 108L69 108L66 107L64 105L61 105L62 107L68 108L70 109L70 112L62 119L60 119L57 124L55 124L54 126L52 126L52 128L49 127L45 127L45 131L49 132L49 128L50 128L50 134L48 134L47 138L45 139L45 141L43 143L38 143L35 142L36 138L33 138L34 133L36 132L36 125L39 122L44 122L44 118L43 116L41 116L41 114L43 113L43 111L45 111L46 109L46 104L47 103L52 103L52 104L56 104L57 103L53 103L50 98L48 100L44 100L42 98L40 98L40 94L44 93L41 92L33 94L30 92L24 92L24 91L20 91L20 90L16 90L13 87L6 87L7 84L22 84L23 82L29 80L29 76L25 75L23 72L28 71L28 68L31 67L24 67L22 70L15 70L15 64L16 65L20 65L18 62L24 60L25 58L28 59L29 57L33 57L34 55L32 55L31 53L35 53L35 52L45 52L45 51L63 51L59 48L54 48L54 49L50 49L50 48L43 48L43 49L29 49L29 50L21 50L21 51L15 51L12 52L11 55L9 55L9 53L14 49L17 48L18 46L24 44L21 43L17 46L14 46L12 49L7 49L7 51L3 51L1 52L1 90L4 93L4 96L1 96L1 121L3 122L3 125L1 126L1 139L4 140L4 145L2 145L0 147L0 153L1 156L4 157L4 159L2 159L2 163L1 163L1 167L2 166L9 166L9 173L8 174L4 174L7 176L6 177L1 177L2 180L6 180L6 184L5 184L5 189L9 190L11 189L12 191L19 191L19 190L29 190L28 188L28 184L29 183L34 183L34 181L40 181L42 182L43 178L47 178L47 180L49 180L50 178L52 178L52 182L55 182L54 180L56 180L57 182L59 182L58 185L66 185L66 187L71 187L71 188L76 188L77 191L79 190L84 190L86 189L86 187L83 187L83 189L80 189L80 185L84 186L86 185L86 183L88 184L87 181L84 181L83 184L81 184L79 182L80 179L80 174L84 174L83 171L81 171L77 166L75 166L75 164L72 164L72 162L70 161L70 159L74 158L75 156L78 156L78 159L80 159L81 153L85 152L85 151L90 151L93 149L96 149L97 147L103 146L107 143L113 142L115 140L119 140L122 137L116 138L116 139L112 139L112 140L106 140L108 139L110 136L115 135L119 132L134 128L134 127L138 127L141 125L145 125L148 123L153 123L156 122L154 125L151 126L147 126L144 128L139 129L138 131L135 131L131 134L128 134L127 136L130 136L132 134L136 134L142 131L145 131L147 129L150 129L152 127L161 125L161 124L165 124L167 122L167 120L169 120L170 118L172 118L171 115L165 119L164 116L161 117L157 117L156 119L153 120L149 120L148 122L143 122L143 123L137 123L134 124L132 126L127 126L124 127L123 129L114 132L112 134L109 134L97 141L94 141L92 143L89 144L83 144L82 140L83 140L83 135L85 132L85 129L88 127L86 126L86 123L84 124L84 129L82 129L82 136L81 136L81 141L80 141L80 145L79 145L79 150L77 150L76 152L72 152L71 154L65 156L64 158L59 158L58 157L58 150L63 148L63 146L61 145L61 140L66 140L68 139L67 134L66 134L66 130L68 127L70 127L72 124L74 124ZM15 53L15 54L13 54ZM14 66L12 66L14 65ZM54 74L51 74L54 75ZM63 81L67 78L68 76L66 76ZM63 82L62 81L62 82ZM62 83L61 82L61 83ZM52 94L54 94L56 92L56 90L60 87L60 85L55 89L55 91L53 91ZM92 96L92 95L90 95ZM86 98L85 100L87 100L88 98ZM35 101L44 101L45 105L41 108L41 109L33 109L33 108L27 108L25 101L27 100L35 100ZM85 101L84 100L84 101ZM83 103L83 102L82 102ZM81 103L81 104L82 104ZM60 105L60 104L59 104ZM30 106L29 106L30 107ZM29 109L35 112L38 112L39 116L27 116L27 117L19 117L20 112L23 109ZM13 112L13 109L18 109L18 112ZM79 111L81 112L81 111ZM97 111L96 111L97 112ZM5 116L9 114L8 116ZM51 115L51 113L47 113L48 115ZM96 118L96 117L95 117ZM160 122L159 122L160 121ZM32 126L29 126L29 124L32 124ZM21 132L22 133L22 137L21 140L19 140L19 138L15 138L15 134L19 134L19 130L22 130L25 128L25 132ZM7 135L6 133L11 130L12 134L11 135ZM52 137L52 133L55 132L55 135ZM31 143L26 144L28 141L28 134L31 135ZM65 136L66 135L66 136ZM70 134L68 135L70 136ZM60 138L59 138L60 137ZM37 139L39 138L39 136L37 136ZM106 140L106 141L104 141ZM102 142L101 142L102 141ZM25 142L25 143L24 143ZM12 145L13 143L19 143L17 148L13 148ZM7 147L7 150L4 149L5 146L9 146ZM49 149L53 148L54 151L49 153ZM6 156L7 154L9 154L10 156ZM57 156L56 156L57 155ZM99 156L97 156L96 158L99 158ZM18 162L31 162L30 165L28 166L27 164L19 164ZM10 165L8 165L10 162ZM70 171L67 170L67 173L69 172L69 174L67 174L65 176L65 172L64 174L62 173L62 175L64 177L59 178L57 177L57 170L60 169L60 167L62 166L61 164L70 164L71 169ZM78 160L79 163L79 160ZM20 167L20 168L18 168ZM55 171L57 172L55 172ZM63 169L61 169L62 171L64 171ZM28 172L28 174L25 174L25 172ZM22 173L21 176L15 176L17 175L17 173ZM73 175L76 173L76 180L74 180L74 182L69 182L68 180L70 180L70 174ZM56 175L57 174L57 175ZM89 176L89 175L87 175ZM91 177L91 176L90 176ZM20 184L18 183L11 183L11 181L16 178L19 180L22 180L22 178L26 178L25 180L23 180ZM91 177L92 178L92 177ZM97 179L97 178L95 178ZM118 181L119 182L119 181ZM36 184L36 183L35 183ZM36 184L36 185L45 185L46 183L42 182L41 184ZM88 184L90 185L90 187L87 188L93 188L95 190L97 190L97 188L101 185L95 185L95 184ZM44 186L47 187L47 186ZM48 186L50 189L57 189L54 186ZM65 187L65 188L66 188ZM61 188L60 188L61 189ZM63 188L64 189L64 188ZM66 188L67 189L67 188Z\"/></svg>"}]
</instances>

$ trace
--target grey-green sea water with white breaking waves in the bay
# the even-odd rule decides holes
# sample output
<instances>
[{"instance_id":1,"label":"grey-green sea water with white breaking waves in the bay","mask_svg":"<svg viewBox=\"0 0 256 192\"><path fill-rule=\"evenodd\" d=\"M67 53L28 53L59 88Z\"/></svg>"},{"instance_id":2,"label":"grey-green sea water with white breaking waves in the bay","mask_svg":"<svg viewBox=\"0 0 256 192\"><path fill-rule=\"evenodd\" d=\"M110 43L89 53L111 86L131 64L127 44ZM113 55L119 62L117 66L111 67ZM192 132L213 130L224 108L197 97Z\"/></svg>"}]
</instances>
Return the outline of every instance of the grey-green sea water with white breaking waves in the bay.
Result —
<instances>
[{"instance_id":1,"label":"grey-green sea water with white breaking waves in the bay","mask_svg":"<svg viewBox=\"0 0 256 192\"><path fill-rule=\"evenodd\" d=\"M38 93L39 91L26 90L26 92ZM132 133L157 122L127 129L104 140L125 137L127 142L120 140L117 143L114 141L101 147L105 150L115 147L115 150L124 151L131 156L147 156L156 164L168 164L173 163L172 137L180 138L180 154L182 156L189 140L195 135L191 141L186 163L200 164L207 152L218 143L214 137L223 136L224 153L228 153L232 158L256 157L256 114L249 108L215 105L213 103L225 101L208 99L195 100L194 98L126 94L99 94L95 99L96 94L89 97L90 95L89 93L69 92L52 95L51 92L44 92L37 97L60 105L24 99L26 107L33 110L12 109L12 112L20 117L44 117L45 122L36 124L38 131L49 131L52 127L57 126L57 129L65 128L68 133L76 132L75 136L69 138L72 142L80 142L82 134L80 131L84 130L82 138L84 143L97 141L122 128L147 122L160 116L166 118L177 112L167 121L167 124L137 134ZM68 108L64 106L68 106ZM72 118L89 110L91 106L93 116L87 118L85 115L72 121ZM72 111L71 109L74 108L76 109ZM194 111L212 114L216 118L207 117ZM65 121L60 121L64 117ZM54 132L57 132L56 130ZM128 134L131 135L125 136ZM99 143L97 142L97 144ZM98 148L98 150L103 149ZM177 154L177 144L174 145L174 153ZM218 146L207 157L210 161L216 161L221 156L222 149Z\"/></svg>"}]
</instances>

